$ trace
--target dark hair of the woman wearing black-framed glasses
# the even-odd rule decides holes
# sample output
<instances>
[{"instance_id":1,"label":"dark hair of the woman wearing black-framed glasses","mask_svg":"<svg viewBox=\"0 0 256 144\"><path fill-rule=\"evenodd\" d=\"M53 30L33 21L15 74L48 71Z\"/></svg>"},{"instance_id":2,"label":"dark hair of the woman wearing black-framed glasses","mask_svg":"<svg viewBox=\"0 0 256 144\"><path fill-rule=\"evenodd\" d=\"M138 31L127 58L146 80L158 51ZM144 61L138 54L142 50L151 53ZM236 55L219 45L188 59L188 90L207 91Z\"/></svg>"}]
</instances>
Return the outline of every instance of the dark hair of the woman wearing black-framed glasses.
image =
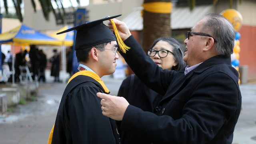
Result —
<instances>
[{"instance_id":1,"label":"dark hair of the woman wearing black-framed glasses","mask_svg":"<svg viewBox=\"0 0 256 144\"><path fill-rule=\"evenodd\" d=\"M159 42L160 40L168 42L173 47L172 52L173 52L174 60L177 62L177 65L173 66L172 70L179 71L180 69L182 69L185 66L185 62L183 60L184 53L180 48L180 43L171 37L158 38L153 42L150 49L152 49L156 45L156 43Z\"/></svg>"}]
</instances>

